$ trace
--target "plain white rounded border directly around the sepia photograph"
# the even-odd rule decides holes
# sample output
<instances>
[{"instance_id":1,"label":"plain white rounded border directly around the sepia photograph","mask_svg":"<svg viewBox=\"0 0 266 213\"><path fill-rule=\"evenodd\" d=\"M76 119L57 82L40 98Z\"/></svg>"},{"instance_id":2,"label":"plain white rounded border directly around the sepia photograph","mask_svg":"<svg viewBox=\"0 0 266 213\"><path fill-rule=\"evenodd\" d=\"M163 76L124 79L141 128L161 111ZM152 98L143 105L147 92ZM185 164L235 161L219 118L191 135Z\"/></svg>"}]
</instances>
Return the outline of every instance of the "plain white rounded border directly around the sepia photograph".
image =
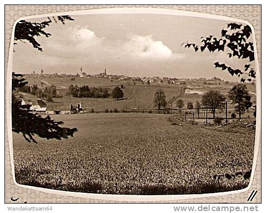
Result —
<instances>
[{"instance_id":1,"label":"plain white rounded border directly around the sepia photograph","mask_svg":"<svg viewBox=\"0 0 266 213\"><path fill-rule=\"evenodd\" d=\"M209 193L209 194L191 194L191 195L111 195L111 194L92 194L92 193L82 193L82 192L69 192L69 191L60 191L54 189L45 189L35 186L27 186L18 184L15 180L15 170L14 170L14 161L13 161L13 143L12 143L12 120L11 120L11 82L12 82L12 66L13 66L13 46L14 46L14 31L15 26L20 20L32 19L32 18L43 18L47 16L55 15L92 15L92 14L165 14L165 15L177 15L177 16L190 16L190 17L200 17L200 18L209 18L209 19L219 19L228 22L239 22L245 25L249 25L252 30L254 53L255 53L255 71L256 71L256 88L257 88L257 116L256 116L256 137L255 137L255 147L254 147L254 157L253 157L253 166L250 182L247 188L229 191L229 192L219 192L219 193ZM191 11L182 11L177 9L161 9L161 8L133 8L133 7L117 7L117 8L102 8L102 9L89 9L89 10L79 10L79 11L68 11L68 12L57 12L57 13L46 13L41 15L33 15L19 18L15 21L12 37L10 42L9 57L8 57L8 67L7 67L7 77L6 77L6 115L10 115L7 119L7 134L8 134L8 144L10 152L10 161L11 161L11 170L14 183L19 187L29 188L33 190L38 190L45 193L51 193L56 195L64 196L75 196L81 198L90 198L98 200L107 200L107 201L128 201L128 202L163 202L163 201L174 201L174 200L183 200L183 199L194 199L194 198L204 198L211 196L224 196L231 195L236 193L245 192L250 189L252 181L254 178L254 172L256 169L259 143L261 137L261 72L259 69L258 53L256 46L255 31L253 26L245 20L240 20L236 18L230 18L226 16L191 12Z\"/></svg>"}]
</instances>

